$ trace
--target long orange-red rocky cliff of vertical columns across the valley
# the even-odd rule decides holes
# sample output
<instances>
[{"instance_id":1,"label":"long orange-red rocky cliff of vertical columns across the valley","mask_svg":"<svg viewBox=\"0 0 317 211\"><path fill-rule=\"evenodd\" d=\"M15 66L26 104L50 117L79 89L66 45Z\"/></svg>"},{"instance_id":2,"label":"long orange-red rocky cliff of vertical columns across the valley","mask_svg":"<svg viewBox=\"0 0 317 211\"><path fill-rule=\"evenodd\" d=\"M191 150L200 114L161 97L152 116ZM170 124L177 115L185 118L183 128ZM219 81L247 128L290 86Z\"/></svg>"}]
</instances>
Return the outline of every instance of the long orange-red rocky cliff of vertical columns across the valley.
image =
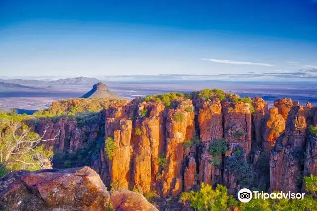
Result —
<instances>
[{"instance_id":1,"label":"long orange-red rocky cliff of vertical columns across the valley","mask_svg":"<svg viewBox=\"0 0 317 211\"><path fill-rule=\"evenodd\" d=\"M53 166L89 165L109 189L167 197L201 182L224 184L231 194L242 187L300 191L303 175L317 174L317 139L307 131L316 124L311 105L281 99L268 109L259 97L215 89L112 102L87 118L47 118L33 127L57 135L46 143L56 153Z\"/></svg>"}]
</instances>

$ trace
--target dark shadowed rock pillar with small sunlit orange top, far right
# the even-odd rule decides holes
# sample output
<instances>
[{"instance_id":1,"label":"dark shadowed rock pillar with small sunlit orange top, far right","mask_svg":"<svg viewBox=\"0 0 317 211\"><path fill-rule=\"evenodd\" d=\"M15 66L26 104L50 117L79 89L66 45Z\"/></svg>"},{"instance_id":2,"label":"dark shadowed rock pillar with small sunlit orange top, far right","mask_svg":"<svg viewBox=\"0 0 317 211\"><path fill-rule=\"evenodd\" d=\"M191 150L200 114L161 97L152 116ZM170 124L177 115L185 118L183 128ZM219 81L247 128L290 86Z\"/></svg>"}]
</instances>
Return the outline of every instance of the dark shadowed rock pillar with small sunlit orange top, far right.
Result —
<instances>
[{"instance_id":1,"label":"dark shadowed rock pillar with small sunlit orange top, far right","mask_svg":"<svg viewBox=\"0 0 317 211\"><path fill-rule=\"evenodd\" d=\"M306 147L306 116L302 106L291 108L285 134L276 140L270 159L271 190L299 192Z\"/></svg>"}]
</instances>

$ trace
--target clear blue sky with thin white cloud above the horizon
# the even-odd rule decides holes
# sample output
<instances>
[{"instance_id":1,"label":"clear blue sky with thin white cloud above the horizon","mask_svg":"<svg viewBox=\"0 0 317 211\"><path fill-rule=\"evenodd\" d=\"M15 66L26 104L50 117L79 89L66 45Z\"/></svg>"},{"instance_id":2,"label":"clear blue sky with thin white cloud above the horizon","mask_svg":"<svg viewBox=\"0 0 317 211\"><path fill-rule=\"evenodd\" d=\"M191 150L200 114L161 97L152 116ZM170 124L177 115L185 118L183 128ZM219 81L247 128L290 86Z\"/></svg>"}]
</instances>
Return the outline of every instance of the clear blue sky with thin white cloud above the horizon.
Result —
<instances>
[{"instance_id":1,"label":"clear blue sky with thin white cloud above the horizon","mask_svg":"<svg viewBox=\"0 0 317 211\"><path fill-rule=\"evenodd\" d=\"M317 68L316 0L1 0L0 75Z\"/></svg>"}]
</instances>

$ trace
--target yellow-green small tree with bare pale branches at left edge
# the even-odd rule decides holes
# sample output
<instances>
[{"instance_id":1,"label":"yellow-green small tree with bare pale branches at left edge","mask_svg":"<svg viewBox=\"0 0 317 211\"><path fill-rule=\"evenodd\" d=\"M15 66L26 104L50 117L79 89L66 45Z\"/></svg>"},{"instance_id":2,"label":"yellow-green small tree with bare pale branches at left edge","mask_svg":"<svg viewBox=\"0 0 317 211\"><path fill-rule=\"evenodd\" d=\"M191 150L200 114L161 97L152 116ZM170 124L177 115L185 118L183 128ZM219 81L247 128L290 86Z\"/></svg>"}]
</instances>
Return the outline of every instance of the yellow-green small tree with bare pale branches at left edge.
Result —
<instances>
[{"instance_id":1,"label":"yellow-green small tree with bare pale branches at left edge","mask_svg":"<svg viewBox=\"0 0 317 211\"><path fill-rule=\"evenodd\" d=\"M52 148L44 149L41 144L53 139L44 140L43 135L31 132L31 128L23 123L21 116L0 111L0 169L4 172L11 170L38 170L51 168L54 153Z\"/></svg>"}]
</instances>

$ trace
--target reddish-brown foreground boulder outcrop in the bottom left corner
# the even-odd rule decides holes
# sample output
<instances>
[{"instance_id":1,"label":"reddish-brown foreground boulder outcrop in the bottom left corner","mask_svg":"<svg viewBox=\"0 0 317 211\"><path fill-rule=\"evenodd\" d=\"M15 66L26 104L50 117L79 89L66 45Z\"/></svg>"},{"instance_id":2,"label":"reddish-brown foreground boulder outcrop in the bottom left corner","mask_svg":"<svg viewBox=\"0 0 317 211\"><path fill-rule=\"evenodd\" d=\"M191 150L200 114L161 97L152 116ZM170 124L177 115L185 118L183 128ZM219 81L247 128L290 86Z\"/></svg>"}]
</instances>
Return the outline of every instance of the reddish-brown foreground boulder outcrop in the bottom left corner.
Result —
<instances>
[{"instance_id":1,"label":"reddish-brown foreground boulder outcrop in the bottom left corner","mask_svg":"<svg viewBox=\"0 0 317 211\"><path fill-rule=\"evenodd\" d=\"M157 210L142 195L108 192L89 167L10 173L0 180L0 210Z\"/></svg>"}]
</instances>

